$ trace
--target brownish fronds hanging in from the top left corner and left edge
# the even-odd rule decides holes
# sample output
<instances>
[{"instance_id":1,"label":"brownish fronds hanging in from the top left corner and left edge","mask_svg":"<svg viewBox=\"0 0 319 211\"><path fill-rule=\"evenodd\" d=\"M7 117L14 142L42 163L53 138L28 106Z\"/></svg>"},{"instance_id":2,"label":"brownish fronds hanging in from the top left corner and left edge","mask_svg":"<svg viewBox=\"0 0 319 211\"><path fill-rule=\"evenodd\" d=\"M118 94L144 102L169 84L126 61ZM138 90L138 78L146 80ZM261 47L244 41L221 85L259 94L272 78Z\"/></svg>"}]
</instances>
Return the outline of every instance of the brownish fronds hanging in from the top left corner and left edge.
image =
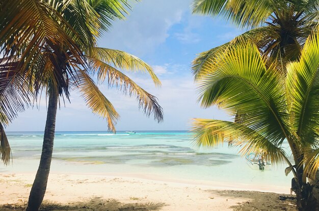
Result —
<instances>
[{"instance_id":1,"label":"brownish fronds hanging in from the top left corner and left edge","mask_svg":"<svg viewBox=\"0 0 319 211\"><path fill-rule=\"evenodd\" d=\"M32 62L42 46L62 43L74 58L82 51L70 38L79 36L54 8L40 0L0 1L0 155L9 163L11 150L4 126L30 103L32 77L28 70L36 69ZM23 82L26 77L29 84Z\"/></svg>"}]
</instances>

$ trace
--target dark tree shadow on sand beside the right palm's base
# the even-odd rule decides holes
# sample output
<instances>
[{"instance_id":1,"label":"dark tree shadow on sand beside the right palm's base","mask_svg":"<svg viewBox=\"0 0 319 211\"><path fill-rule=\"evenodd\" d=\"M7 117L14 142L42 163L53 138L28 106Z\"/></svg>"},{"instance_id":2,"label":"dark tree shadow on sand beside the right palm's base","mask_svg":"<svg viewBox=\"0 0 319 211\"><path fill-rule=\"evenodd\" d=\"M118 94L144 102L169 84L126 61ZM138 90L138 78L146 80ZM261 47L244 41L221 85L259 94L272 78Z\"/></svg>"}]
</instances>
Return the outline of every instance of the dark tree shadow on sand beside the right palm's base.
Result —
<instances>
[{"instance_id":1,"label":"dark tree shadow on sand beside the right palm's base","mask_svg":"<svg viewBox=\"0 0 319 211\"><path fill-rule=\"evenodd\" d=\"M211 190L212 194L229 198L242 198L243 202L231 206L234 211L296 211L296 196L259 191L219 191ZM248 200L245 200L248 199Z\"/></svg>"}]
</instances>

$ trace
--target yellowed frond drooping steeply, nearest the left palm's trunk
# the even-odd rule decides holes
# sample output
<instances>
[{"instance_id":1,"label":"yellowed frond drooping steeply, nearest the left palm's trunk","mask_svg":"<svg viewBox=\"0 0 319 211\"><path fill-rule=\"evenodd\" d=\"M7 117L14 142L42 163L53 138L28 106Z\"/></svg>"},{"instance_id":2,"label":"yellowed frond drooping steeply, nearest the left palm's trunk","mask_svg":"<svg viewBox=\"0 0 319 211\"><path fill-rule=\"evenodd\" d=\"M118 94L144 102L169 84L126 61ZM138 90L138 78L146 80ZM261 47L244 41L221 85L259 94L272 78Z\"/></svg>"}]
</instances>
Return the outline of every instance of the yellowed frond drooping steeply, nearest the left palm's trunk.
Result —
<instances>
[{"instance_id":1,"label":"yellowed frond drooping steeply, nearest the left palm's trunk","mask_svg":"<svg viewBox=\"0 0 319 211\"><path fill-rule=\"evenodd\" d=\"M90 76L82 70L77 72L78 81L76 82L79 92L91 108L92 112L107 119L108 129L115 132L115 124L119 118L112 103L105 98Z\"/></svg>"}]
</instances>

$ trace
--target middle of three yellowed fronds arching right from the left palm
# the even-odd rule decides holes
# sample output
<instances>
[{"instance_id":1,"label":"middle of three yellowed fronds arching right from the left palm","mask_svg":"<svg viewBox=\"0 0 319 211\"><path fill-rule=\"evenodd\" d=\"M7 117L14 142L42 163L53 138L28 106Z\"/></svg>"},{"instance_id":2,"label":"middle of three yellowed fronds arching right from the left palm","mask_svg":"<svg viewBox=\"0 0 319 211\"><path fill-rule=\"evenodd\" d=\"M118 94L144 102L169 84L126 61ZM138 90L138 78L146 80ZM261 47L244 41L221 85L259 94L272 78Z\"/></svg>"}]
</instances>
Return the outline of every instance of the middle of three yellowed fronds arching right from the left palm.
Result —
<instances>
[{"instance_id":1,"label":"middle of three yellowed fronds arching right from the left palm","mask_svg":"<svg viewBox=\"0 0 319 211\"><path fill-rule=\"evenodd\" d=\"M156 119L158 122L163 120L163 109L161 106L159 106L155 96L146 92L129 77L112 66L94 57L89 57L89 59L93 72L97 73L97 78L100 80L107 79L109 85L115 85L117 88L123 91L124 94L128 94L129 96L136 95L139 101L139 106L143 108L147 116L153 113L154 119Z\"/></svg>"}]
</instances>

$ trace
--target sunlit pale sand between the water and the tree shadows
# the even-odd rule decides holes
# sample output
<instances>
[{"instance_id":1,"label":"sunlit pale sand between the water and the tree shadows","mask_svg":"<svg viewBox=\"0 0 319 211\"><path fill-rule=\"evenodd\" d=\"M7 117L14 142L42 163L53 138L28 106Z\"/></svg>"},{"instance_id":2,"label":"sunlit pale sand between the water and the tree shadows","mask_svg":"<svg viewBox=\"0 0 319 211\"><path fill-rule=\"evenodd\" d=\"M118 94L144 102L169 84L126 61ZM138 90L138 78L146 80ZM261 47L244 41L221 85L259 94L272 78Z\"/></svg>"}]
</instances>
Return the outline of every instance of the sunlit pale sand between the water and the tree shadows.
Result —
<instances>
[{"instance_id":1,"label":"sunlit pale sand between the water and the tree shadows","mask_svg":"<svg viewBox=\"0 0 319 211\"><path fill-rule=\"evenodd\" d=\"M34 174L0 174L0 204L25 204ZM268 188L267 188L268 187ZM234 210L252 200L264 200L252 192L214 192L211 190L260 190L287 193L271 186L258 188L243 184L221 184L199 180L172 180L154 175L105 175L51 173L44 200L68 204L94 199L115 199L127 203L164 203L160 210ZM224 194L225 193L225 194ZM227 193L227 194L226 194ZM246 193L246 194L245 194ZM271 204L271 202L267 202ZM276 205L277 202L274 202ZM241 209L246 210L246 209ZM247 208L247 210L253 210ZM268 209L265 209L268 210ZM272 209L270 209L272 210ZM276 210L276 209L274 209Z\"/></svg>"}]
</instances>

